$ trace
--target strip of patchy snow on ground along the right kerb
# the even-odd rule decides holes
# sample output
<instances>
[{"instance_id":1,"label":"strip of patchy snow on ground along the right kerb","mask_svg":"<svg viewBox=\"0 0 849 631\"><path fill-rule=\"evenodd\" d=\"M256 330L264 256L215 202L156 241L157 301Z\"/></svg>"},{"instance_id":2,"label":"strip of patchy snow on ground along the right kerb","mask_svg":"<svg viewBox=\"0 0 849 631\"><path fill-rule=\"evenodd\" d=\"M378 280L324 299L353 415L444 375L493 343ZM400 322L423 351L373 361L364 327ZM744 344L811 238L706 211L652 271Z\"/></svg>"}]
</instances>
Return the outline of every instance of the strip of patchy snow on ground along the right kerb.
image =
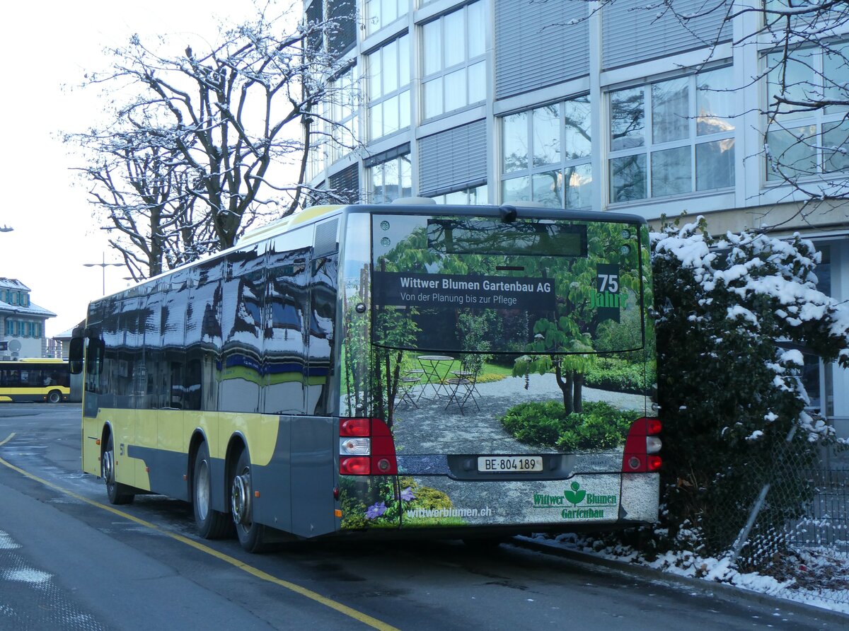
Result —
<instances>
[{"instance_id":1,"label":"strip of patchy snow on ground along the right kerb","mask_svg":"<svg viewBox=\"0 0 849 631\"><path fill-rule=\"evenodd\" d=\"M787 577L779 580L757 572L739 572L728 557L704 558L691 552L667 552L649 561L637 550L625 545L604 547L604 544L592 537L573 533L558 535L555 538L537 534L534 539L611 561L635 563L671 576L723 583L775 598L849 614L847 555L835 557L816 550L800 551L793 558L786 560L784 569L788 571Z\"/></svg>"}]
</instances>

